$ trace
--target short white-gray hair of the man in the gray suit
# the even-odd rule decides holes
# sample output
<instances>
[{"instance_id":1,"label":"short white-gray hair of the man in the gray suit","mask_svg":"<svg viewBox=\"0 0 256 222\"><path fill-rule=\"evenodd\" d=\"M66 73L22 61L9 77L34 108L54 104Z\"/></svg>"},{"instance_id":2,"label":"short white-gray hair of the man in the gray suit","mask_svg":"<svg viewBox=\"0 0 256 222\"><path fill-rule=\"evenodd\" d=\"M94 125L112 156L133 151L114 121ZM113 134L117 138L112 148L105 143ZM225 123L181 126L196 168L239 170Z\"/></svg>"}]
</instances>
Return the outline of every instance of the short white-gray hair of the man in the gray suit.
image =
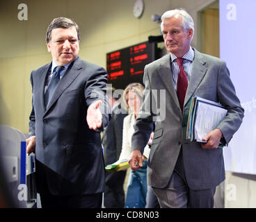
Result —
<instances>
[{"instance_id":1,"label":"short white-gray hair of the man in the gray suit","mask_svg":"<svg viewBox=\"0 0 256 222\"><path fill-rule=\"evenodd\" d=\"M177 8L174 10L169 10L167 12L164 12L162 17L161 17L161 32L163 32L163 19L168 19L171 17L175 17L176 15L181 15L182 16L182 24L183 24L183 28L185 31L188 31L189 28L192 28L193 30L193 35L194 35L194 21L191 17L191 15L189 15L188 12L186 12L186 10L184 10L184 8ZM193 39L193 36L191 37L191 40Z\"/></svg>"}]
</instances>

